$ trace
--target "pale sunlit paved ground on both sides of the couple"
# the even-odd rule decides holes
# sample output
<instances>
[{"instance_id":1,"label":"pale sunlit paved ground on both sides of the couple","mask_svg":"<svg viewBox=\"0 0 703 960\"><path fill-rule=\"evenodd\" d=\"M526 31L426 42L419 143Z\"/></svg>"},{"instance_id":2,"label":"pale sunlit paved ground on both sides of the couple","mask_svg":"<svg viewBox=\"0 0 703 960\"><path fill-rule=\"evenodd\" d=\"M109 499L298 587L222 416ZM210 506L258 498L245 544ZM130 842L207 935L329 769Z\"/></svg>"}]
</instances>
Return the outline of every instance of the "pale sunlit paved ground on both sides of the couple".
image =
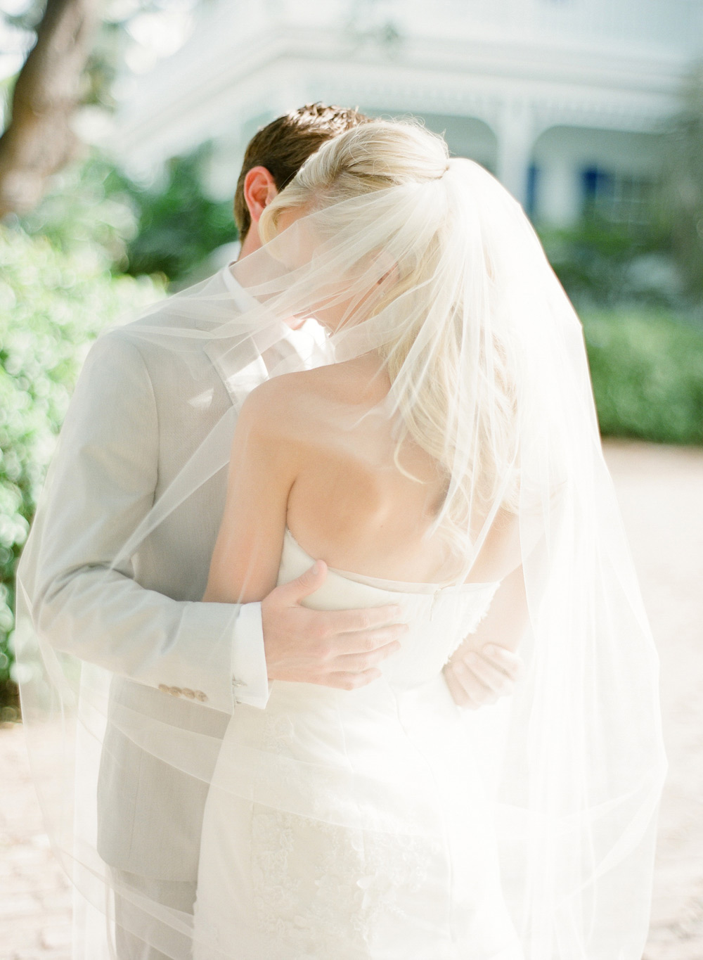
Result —
<instances>
[{"instance_id":1,"label":"pale sunlit paved ground on both sides of the couple","mask_svg":"<svg viewBox=\"0 0 703 960\"><path fill-rule=\"evenodd\" d=\"M703 450L607 443L662 668L669 774L644 960L703 960ZM22 730L0 726L0 960L69 960L71 895Z\"/></svg>"}]
</instances>

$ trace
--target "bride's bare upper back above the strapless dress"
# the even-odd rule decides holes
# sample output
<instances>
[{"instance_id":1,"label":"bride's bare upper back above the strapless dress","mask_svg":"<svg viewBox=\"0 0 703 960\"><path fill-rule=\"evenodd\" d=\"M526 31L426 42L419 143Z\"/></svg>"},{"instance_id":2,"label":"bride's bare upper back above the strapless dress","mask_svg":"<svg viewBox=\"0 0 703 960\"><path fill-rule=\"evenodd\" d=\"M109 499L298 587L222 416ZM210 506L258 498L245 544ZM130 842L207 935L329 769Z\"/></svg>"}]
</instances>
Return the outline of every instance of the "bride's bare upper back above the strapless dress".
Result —
<instances>
[{"instance_id":1,"label":"bride's bare upper back above the strapless dress","mask_svg":"<svg viewBox=\"0 0 703 960\"><path fill-rule=\"evenodd\" d=\"M343 570L391 580L441 579L444 543L423 535L441 504L444 480L430 455L411 441L396 464L391 421L372 413L389 389L379 358L367 354L287 380L301 455L287 505L296 540Z\"/></svg>"}]
</instances>

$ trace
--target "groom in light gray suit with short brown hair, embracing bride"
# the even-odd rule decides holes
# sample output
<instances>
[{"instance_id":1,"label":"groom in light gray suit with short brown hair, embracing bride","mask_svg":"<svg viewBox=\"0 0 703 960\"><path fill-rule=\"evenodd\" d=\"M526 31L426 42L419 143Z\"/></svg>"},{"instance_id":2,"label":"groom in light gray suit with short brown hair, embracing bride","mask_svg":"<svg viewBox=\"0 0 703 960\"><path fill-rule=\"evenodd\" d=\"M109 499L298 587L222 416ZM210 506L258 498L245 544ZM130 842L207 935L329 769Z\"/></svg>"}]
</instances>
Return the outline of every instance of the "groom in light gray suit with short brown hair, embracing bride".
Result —
<instances>
[{"instance_id":1,"label":"groom in light gray suit with short brown hair, embracing bride","mask_svg":"<svg viewBox=\"0 0 703 960\"><path fill-rule=\"evenodd\" d=\"M242 257L260 246L257 223L264 208L304 160L365 120L357 110L316 104L279 117L254 136L235 196ZM228 269L213 282L236 301ZM159 316L167 316L168 303L157 307ZM111 711L124 708L220 739L237 703L266 708L270 681L343 688L367 683L364 671L392 656L406 630L393 623L390 608L303 607L326 576L316 567L261 603L201 603L223 511L224 471L168 516L129 564L110 567L214 424L266 379L263 364L252 369L236 353L222 342L204 348L198 374L210 398L195 405L179 392L169 360L157 350L137 348L119 328L94 345L35 535L39 563L29 598L37 633L113 674ZM445 670L460 706L479 707L509 692L519 666L501 648L495 660L474 660L455 660ZM138 935L145 918L135 900L192 910L205 796L203 781L108 724L98 847L116 887L128 892L114 904L119 960L164 956L149 946L148 929Z\"/></svg>"}]
</instances>

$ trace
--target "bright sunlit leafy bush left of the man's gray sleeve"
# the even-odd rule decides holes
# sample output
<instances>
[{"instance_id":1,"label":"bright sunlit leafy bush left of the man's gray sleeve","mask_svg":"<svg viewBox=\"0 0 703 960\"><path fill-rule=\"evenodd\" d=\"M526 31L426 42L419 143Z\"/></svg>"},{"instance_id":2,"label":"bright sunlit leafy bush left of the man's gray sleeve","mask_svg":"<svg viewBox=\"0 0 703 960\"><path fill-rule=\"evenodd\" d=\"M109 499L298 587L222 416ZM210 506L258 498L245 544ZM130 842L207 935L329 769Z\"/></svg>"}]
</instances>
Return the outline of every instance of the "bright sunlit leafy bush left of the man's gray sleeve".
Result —
<instances>
[{"instance_id":1,"label":"bright sunlit leafy bush left of the man's gray sleeve","mask_svg":"<svg viewBox=\"0 0 703 960\"><path fill-rule=\"evenodd\" d=\"M13 577L56 435L90 342L154 300L148 278L0 227L0 703L11 695Z\"/></svg>"}]
</instances>

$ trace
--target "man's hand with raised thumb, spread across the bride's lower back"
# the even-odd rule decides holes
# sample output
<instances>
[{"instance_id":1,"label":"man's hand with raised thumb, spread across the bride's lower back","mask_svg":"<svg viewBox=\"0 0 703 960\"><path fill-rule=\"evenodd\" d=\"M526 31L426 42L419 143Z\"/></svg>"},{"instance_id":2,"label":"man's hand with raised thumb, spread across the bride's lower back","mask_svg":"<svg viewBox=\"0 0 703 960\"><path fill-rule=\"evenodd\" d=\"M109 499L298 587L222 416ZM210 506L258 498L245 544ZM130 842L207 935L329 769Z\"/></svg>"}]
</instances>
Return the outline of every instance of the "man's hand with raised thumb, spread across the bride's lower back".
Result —
<instances>
[{"instance_id":1,"label":"man's hand with raised thumb, spread across the bride's lower back","mask_svg":"<svg viewBox=\"0 0 703 960\"><path fill-rule=\"evenodd\" d=\"M397 606L317 611L300 601L319 589L327 566L318 561L261 604L269 680L353 690L381 676L378 664L400 649L408 631Z\"/></svg>"}]
</instances>

